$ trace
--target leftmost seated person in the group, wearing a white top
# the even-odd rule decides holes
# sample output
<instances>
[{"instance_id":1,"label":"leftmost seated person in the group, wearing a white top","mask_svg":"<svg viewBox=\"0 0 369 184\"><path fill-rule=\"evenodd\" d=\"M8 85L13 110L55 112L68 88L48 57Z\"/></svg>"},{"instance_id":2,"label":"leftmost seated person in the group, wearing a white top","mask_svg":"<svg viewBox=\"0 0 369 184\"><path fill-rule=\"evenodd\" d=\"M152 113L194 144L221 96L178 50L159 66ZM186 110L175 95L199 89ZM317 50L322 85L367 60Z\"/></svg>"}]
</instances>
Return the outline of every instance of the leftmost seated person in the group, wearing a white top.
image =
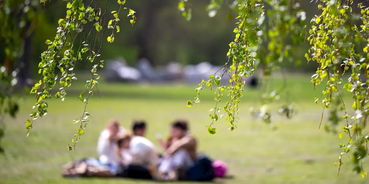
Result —
<instances>
[{"instance_id":1,"label":"leftmost seated person in the group, wearing a white top","mask_svg":"<svg viewBox=\"0 0 369 184\"><path fill-rule=\"evenodd\" d=\"M121 127L117 120L111 119L107 127L101 131L99 141L97 142L97 153L99 161L103 166L108 166L114 173L117 167L117 141L125 134L125 128Z\"/></svg>"}]
</instances>

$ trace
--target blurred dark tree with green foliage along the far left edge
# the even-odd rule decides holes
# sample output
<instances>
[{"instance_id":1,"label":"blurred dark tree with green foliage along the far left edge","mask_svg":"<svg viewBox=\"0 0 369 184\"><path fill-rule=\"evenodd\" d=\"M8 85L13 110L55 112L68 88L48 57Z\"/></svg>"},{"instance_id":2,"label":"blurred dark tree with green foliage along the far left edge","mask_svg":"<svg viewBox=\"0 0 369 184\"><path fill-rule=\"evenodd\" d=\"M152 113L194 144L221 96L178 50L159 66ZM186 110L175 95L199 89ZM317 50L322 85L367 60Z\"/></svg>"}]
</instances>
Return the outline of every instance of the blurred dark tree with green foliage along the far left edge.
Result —
<instances>
[{"instance_id":1,"label":"blurred dark tree with green foliage along the far left edge","mask_svg":"<svg viewBox=\"0 0 369 184\"><path fill-rule=\"evenodd\" d=\"M37 7L35 0L0 1L0 141L4 136L4 116L15 117L18 112L13 97L16 86L24 87L31 78L30 50Z\"/></svg>"}]
</instances>

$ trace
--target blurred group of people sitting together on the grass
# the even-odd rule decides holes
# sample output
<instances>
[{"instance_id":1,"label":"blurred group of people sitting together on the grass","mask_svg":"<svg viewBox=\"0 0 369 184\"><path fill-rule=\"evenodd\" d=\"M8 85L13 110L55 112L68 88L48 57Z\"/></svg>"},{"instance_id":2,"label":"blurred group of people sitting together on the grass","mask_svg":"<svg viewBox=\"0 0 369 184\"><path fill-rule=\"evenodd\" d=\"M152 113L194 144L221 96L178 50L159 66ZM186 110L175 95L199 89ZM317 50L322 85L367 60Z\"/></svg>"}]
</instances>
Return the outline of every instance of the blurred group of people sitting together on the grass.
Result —
<instances>
[{"instance_id":1,"label":"blurred group of people sitting together on the grass","mask_svg":"<svg viewBox=\"0 0 369 184\"><path fill-rule=\"evenodd\" d=\"M190 134L186 121L175 121L168 140L156 136L163 153L145 138L146 123L136 121L132 131L110 120L101 131L97 144L99 162L120 177L154 180L179 180L197 160L197 141Z\"/></svg>"}]
</instances>

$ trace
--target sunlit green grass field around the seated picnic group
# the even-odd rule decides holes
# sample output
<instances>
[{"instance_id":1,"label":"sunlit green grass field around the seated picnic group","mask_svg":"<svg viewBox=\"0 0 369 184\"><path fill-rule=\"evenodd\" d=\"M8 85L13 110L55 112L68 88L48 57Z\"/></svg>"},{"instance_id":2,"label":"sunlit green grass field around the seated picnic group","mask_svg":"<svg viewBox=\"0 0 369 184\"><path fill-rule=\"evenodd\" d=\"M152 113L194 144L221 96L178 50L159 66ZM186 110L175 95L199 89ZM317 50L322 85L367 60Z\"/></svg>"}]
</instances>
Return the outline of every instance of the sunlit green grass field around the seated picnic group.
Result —
<instances>
[{"instance_id":1,"label":"sunlit green grass field around the seated picnic group","mask_svg":"<svg viewBox=\"0 0 369 184\"><path fill-rule=\"evenodd\" d=\"M294 75L287 87L289 98L295 103L298 114L288 120L273 114L272 121L278 127L273 131L261 120L252 118L248 109L259 103L261 91L246 89L240 105L240 121L233 132L228 124L220 119L213 127L217 128L215 137L207 133L210 124L208 110L215 105L213 93L204 91L200 104L186 107L187 100L196 95L196 85L128 85L99 84L100 98L97 93L90 99L87 111L91 114L85 135L80 139L76 150L67 151L73 135L79 125L73 124L74 117L80 117L84 104L76 93L83 84L70 87L65 102L53 99L49 103L49 113L34 122L33 130L26 138L25 120L32 112L35 99L24 96L21 110L16 120L6 119L6 137L2 145L6 149L0 155L0 183L147 183L138 180L122 179L64 179L61 177L63 164L83 157L96 157L96 143L100 131L110 118L117 118L121 124L130 128L134 119L148 122L148 135L155 144L155 134L168 135L168 125L177 118L186 118L190 129L199 141L199 151L213 159L224 160L231 179L218 179L217 183L369 183L368 178L352 173L349 158L340 175L334 165L342 151L338 135L318 130L322 107L314 103L314 97L320 96L323 86L313 91L310 76ZM275 78L273 87L281 87L282 80ZM346 95L346 94L344 94ZM283 103L281 95L279 103ZM347 99L347 95L345 97ZM223 101L225 103L225 101ZM222 103L222 104L223 104ZM350 104L349 102L347 102ZM274 112L277 105L273 106ZM325 111L325 117L328 116ZM343 114L342 114L343 115ZM326 122L324 118L323 123ZM342 122L343 124L343 122ZM369 162L364 169L369 172Z\"/></svg>"}]
</instances>

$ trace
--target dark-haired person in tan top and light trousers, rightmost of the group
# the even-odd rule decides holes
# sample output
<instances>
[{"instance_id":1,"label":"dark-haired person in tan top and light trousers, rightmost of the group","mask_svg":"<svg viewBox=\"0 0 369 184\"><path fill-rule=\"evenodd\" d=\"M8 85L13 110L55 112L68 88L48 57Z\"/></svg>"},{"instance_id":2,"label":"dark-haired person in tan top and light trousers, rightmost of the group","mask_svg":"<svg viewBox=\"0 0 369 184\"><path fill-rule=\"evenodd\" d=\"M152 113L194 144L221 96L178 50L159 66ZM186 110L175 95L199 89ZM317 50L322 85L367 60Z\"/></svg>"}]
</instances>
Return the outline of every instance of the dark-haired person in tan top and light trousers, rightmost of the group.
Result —
<instances>
[{"instance_id":1,"label":"dark-haired person in tan top and light trousers, rightmost of the group","mask_svg":"<svg viewBox=\"0 0 369 184\"><path fill-rule=\"evenodd\" d=\"M164 180L178 180L197 160L197 141L189 133L187 121L179 120L172 123L171 138L173 141L165 149L164 159L159 166Z\"/></svg>"}]
</instances>

